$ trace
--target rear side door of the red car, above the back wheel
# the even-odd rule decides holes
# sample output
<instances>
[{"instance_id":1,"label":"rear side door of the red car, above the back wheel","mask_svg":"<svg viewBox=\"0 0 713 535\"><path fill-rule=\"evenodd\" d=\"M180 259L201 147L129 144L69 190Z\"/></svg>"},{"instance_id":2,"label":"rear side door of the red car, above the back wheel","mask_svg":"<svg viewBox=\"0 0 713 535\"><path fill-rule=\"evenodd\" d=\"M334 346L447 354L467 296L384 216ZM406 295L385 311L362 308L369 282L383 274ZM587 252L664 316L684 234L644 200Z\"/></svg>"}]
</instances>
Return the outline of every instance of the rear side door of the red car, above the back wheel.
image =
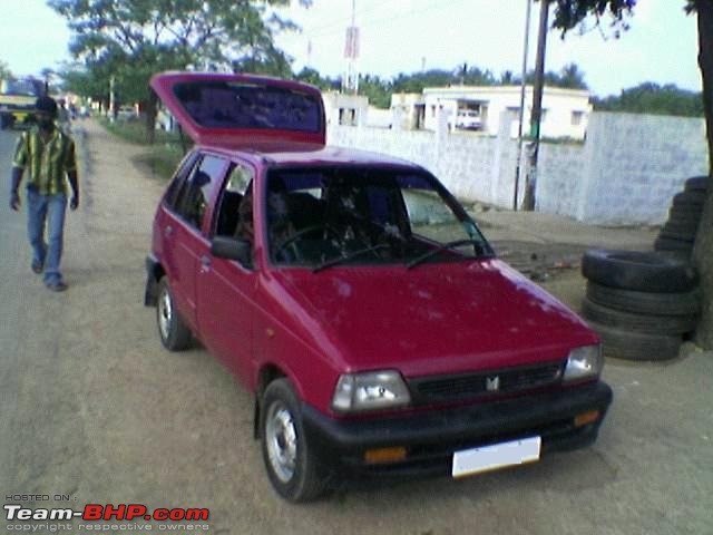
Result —
<instances>
[{"instance_id":1,"label":"rear side door of the red car, above the back wheel","mask_svg":"<svg viewBox=\"0 0 713 535\"><path fill-rule=\"evenodd\" d=\"M198 335L196 278L209 247L204 227L226 166L225 158L201 154L180 185L174 208L168 211L163 225L163 249L176 307L189 329Z\"/></svg>"}]
</instances>

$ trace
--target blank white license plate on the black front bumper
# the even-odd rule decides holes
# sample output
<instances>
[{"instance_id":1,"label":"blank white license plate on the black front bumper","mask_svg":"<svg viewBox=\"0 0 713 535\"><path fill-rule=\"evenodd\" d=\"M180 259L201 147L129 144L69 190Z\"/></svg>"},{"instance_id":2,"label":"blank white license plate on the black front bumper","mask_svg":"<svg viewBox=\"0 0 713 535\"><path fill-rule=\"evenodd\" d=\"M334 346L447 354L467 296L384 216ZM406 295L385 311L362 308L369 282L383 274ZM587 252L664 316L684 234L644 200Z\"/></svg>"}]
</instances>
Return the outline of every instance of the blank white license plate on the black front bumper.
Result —
<instances>
[{"instance_id":1,"label":"blank white license plate on the black front bumper","mask_svg":"<svg viewBox=\"0 0 713 535\"><path fill-rule=\"evenodd\" d=\"M540 437L531 437L456 451L451 474L453 477L463 477L507 466L535 463L539 459L541 442Z\"/></svg>"}]
</instances>

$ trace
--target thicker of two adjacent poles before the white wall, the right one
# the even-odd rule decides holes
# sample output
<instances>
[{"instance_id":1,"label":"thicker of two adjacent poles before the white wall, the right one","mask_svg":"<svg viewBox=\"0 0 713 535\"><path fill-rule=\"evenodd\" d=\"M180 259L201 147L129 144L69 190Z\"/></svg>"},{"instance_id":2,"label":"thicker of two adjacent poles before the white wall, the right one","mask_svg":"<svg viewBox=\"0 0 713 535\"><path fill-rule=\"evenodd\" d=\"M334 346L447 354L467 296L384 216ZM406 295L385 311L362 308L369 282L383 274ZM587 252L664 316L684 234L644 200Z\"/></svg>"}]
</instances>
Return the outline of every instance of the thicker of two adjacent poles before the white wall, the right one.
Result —
<instances>
[{"instance_id":1,"label":"thicker of two adjacent poles before the white wall, the right one","mask_svg":"<svg viewBox=\"0 0 713 535\"><path fill-rule=\"evenodd\" d=\"M547 45L547 16L550 0L539 0L539 29L537 35L537 59L535 61L535 87L533 88L533 114L530 116L529 166L525 178L522 210L535 210L537 185L537 157L539 153L540 123L543 119L543 88L545 86L545 48Z\"/></svg>"}]
</instances>

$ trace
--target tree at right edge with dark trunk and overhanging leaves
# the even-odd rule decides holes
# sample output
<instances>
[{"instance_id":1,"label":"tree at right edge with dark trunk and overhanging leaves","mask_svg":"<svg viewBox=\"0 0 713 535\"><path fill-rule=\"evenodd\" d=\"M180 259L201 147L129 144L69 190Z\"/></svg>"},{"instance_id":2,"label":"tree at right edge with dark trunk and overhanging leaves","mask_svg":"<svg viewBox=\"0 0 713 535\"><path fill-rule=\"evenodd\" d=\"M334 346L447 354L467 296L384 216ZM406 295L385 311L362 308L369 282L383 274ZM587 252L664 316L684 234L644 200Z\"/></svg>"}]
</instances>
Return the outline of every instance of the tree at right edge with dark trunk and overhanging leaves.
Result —
<instances>
[{"instance_id":1,"label":"tree at right edge with dark trunk and overhanging leaves","mask_svg":"<svg viewBox=\"0 0 713 535\"><path fill-rule=\"evenodd\" d=\"M550 1L550 0L540 0ZM626 29L628 16L633 13L635 0L551 0L555 4L554 27L563 36L579 25L585 18L594 16L597 23L603 17L612 20L614 31ZM699 225L693 261L701 274L703 290L703 311L696 330L696 341L705 349L713 349L713 1L685 0L682 6L686 12L696 12L699 26L699 66L703 79L703 111L709 143L709 188ZM675 37L672 37L675 39Z\"/></svg>"}]
</instances>

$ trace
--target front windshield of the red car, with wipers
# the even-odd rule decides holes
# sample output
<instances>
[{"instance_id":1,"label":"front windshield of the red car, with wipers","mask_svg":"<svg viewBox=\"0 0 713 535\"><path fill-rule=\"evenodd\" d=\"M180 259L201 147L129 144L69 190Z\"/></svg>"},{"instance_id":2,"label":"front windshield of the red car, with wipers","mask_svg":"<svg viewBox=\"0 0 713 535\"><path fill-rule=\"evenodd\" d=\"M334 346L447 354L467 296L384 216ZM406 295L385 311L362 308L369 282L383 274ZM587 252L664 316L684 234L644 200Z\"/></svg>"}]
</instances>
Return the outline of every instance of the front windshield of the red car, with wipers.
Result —
<instances>
[{"instance_id":1,"label":"front windshield of the red car, with wipers","mask_svg":"<svg viewBox=\"0 0 713 535\"><path fill-rule=\"evenodd\" d=\"M473 221L424 172L274 168L265 195L268 250L279 265L416 268L492 255Z\"/></svg>"}]
</instances>

